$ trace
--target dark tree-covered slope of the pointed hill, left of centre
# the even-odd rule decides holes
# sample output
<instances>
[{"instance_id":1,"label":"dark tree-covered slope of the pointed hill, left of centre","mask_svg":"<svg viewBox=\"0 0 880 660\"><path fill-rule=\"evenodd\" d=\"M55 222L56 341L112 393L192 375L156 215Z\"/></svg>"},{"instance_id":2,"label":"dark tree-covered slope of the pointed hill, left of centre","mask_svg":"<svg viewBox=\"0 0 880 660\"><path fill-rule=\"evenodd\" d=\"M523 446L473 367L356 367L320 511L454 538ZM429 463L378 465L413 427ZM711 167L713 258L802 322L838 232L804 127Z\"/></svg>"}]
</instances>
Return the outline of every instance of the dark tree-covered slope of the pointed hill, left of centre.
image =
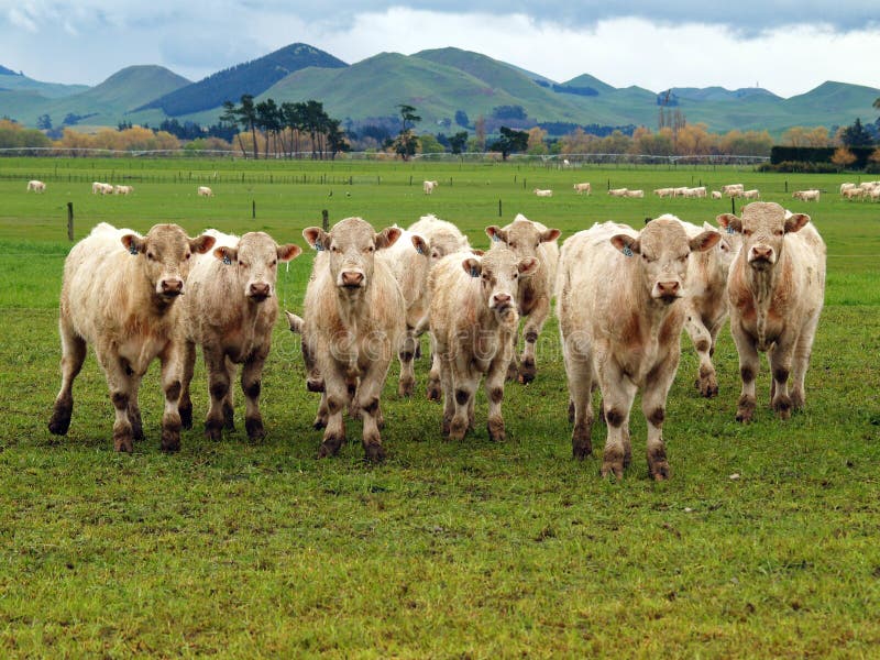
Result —
<instances>
[{"instance_id":1,"label":"dark tree-covered slope of the pointed hill, left of centre","mask_svg":"<svg viewBox=\"0 0 880 660\"><path fill-rule=\"evenodd\" d=\"M151 102L139 110L155 108L169 117L210 110L222 106L224 101L238 102L245 94L258 96L285 76L311 66L342 68L348 65L309 45L292 44L258 59L212 74L165 96L153 97Z\"/></svg>"}]
</instances>

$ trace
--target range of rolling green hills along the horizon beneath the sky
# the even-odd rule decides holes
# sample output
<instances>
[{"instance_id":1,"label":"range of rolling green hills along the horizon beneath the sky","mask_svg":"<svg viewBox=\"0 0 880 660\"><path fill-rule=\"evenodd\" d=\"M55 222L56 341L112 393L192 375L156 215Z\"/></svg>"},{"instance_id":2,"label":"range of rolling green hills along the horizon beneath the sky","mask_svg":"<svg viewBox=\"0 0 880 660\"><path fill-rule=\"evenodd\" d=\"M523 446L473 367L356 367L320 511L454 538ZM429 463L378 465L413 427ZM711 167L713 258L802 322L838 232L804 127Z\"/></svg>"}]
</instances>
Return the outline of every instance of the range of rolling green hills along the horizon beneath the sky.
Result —
<instances>
[{"instance_id":1,"label":"range of rolling green hills along the horizon beneath the sky","mask_svg":"<svg viewBox=\"0 0 880 660\"><path fill-rule=\"evenodd\" d=\"M190 82L163 67L129 67L101 85L50 98L45 88L3 85L19 79L0 70L0 111L28 125L50 114L57 124L68 113L87 117L91 125L116 127L120 121L157 125L179 121L211 124L226 100L243 94L276 102L315 99L331 117L354 124L397 117L408 103L422 117L421 131L454 131L458 111L471 122L488 119L505 106L519 106L528 120L571 124L657 125L658 92L639 87L615 88L590 74L556 82L470 51L436 48L414 55L380 53L352 65L308 46L292 44L258 59ZM48 85L48 84L41 84ZM58 90L59 92L63 90ZM848 125L857 117L873 121L871 108L880 89L828 81L816 89L782 99L761 88L673 87L670 96L688 122L705 123L710 131L768 130L779 136L794 125ZM507 125L515 125L508 122Z\"/></svg>"}]
</instances>

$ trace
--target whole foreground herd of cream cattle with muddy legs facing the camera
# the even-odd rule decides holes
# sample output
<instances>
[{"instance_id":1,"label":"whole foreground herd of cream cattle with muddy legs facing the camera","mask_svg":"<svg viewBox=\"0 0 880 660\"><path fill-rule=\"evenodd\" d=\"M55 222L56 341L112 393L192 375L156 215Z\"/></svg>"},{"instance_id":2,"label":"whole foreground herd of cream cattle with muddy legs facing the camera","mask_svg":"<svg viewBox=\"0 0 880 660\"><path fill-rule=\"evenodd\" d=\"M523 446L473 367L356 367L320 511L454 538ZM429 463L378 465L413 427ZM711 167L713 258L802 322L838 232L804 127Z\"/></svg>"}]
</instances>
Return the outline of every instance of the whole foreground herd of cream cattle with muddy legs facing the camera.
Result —
<instances>
[{"instance_id":1,"label":"whole foreground herd of cream cattle with muddy legs facing the camera","mask_svg":"<svg viewBox=\"0 0 880 660\"><path fill-rule=\"evenodd\" d=\"M345 440L343 416L363 422L366 458L382 460L381 393L389 364L400 362L398 393L415 386L418 337L430 336L428 396L443 399L442 433L462 439L474 427L474 399L485 380L487 428L505 438L505 381L536 377L536 343L556 297L569 383L572 451L592 452L592 392L602 393L607 424L602 474L622 477L630 461L629 415L644 391L648 465L669 476L662 440L666 402L686 330L700 355L696 386L718 392L712 354L729 315L739 353L737 420L756 407L758 353L768 355L771 405L780 418L804 405L804 375L824 299L825 245L803 213L752 202L718 227L664 215L641 231L597 223L558 245L560 231L517 216L485 232L491 248L472 248L452 223L426 216L408 229L376 231L346 218L329 231L310 227L315 251L302 317L287 312L302 336L307 387L320 392L315 428L319 455ZM68 430L73 384L92 344L116 409L113 443L132 451L143 438L139 387L161 363L165 395L162 443L176 451L191 428L189 387L196 348L208 373L209 438L233 427L232 383L242 365L248 437L263 437L262 370L278 305L277 267L301 252L263 232L209 230L197 238L176 224L146 235L98 224L66 258L61 295L62 387L48 428ZM184 295L186 294L186 295ZM524 350L516 355L520 320Z\"/></svg>"}]
</instances>

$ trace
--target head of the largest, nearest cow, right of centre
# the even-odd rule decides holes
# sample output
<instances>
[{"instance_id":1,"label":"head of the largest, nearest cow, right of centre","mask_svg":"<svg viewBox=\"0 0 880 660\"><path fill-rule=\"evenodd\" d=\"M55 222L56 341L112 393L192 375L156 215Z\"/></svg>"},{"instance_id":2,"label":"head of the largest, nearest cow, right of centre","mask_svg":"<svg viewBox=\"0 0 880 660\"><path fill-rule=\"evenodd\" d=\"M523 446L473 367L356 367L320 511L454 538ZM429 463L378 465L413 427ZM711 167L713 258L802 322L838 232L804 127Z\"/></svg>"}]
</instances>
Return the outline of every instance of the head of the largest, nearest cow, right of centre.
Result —
<instances>
[{"instance_id":1,"label":"head of the largest, nearest cow, right of centre","mask_svg":"<svg viewBox=\"0 0 880 660\"><path fill-rule=\"evenodd\" d=\"M721 238L717 231L704 231L689 239L680 222L658 218L646 224L638 237L615 234L610 241L626 257L639 260L644 286L651 298L668 305L684 295L691 252L704 252Z\"/></svg>"}]
</instances>

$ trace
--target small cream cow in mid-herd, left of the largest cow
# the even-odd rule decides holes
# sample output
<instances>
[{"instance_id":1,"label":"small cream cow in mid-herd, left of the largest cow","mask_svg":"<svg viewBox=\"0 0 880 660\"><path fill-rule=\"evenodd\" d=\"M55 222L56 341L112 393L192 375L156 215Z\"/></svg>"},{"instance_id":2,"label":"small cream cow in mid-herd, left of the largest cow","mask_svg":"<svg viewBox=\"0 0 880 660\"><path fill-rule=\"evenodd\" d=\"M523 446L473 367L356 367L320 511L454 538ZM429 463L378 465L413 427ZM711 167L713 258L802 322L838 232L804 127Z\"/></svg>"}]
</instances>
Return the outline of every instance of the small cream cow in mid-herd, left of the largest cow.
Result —
<instances>
[{"instance_id":1,"label":"small cream cow in mid-herd, left of the largest cow","mask_svg":"<svg viewBox=\"0 0 880 660\"><path fill-rule=\"evenodd\" d=\"M474 398L484 375L490 438L506 438L502 399L519 324L517 293L538 265L535 256L519 257L499 246L482 257L450 254L431 272L430 328L440 360L442 430L450 440L463 439L473 428Z\"/></svg>"}]
</instances>

